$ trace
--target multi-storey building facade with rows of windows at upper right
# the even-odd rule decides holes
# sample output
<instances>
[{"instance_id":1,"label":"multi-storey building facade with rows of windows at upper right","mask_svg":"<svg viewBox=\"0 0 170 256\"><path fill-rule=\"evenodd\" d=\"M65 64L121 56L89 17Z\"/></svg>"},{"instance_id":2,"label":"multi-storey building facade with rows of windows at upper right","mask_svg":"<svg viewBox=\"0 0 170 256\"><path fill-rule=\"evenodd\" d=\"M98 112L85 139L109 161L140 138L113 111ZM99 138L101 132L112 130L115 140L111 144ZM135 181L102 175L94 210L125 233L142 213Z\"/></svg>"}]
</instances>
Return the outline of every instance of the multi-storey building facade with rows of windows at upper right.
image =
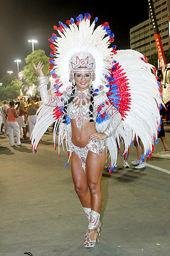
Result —
<instances>
[{"instance_id":1,"label":"multi-storey building facade with rows of windows at upper right","mask_svg":"<svg viewBox=\"0 0 170 256\"><path fill-rule=\"evenodd\" d=\"M154 0L153 5L164 53L166 53L170 47L167 1ZM130 49L137 50L148 58L157 52L150 14L146 21L130 29Z\"/></svg>"}]
</instances>

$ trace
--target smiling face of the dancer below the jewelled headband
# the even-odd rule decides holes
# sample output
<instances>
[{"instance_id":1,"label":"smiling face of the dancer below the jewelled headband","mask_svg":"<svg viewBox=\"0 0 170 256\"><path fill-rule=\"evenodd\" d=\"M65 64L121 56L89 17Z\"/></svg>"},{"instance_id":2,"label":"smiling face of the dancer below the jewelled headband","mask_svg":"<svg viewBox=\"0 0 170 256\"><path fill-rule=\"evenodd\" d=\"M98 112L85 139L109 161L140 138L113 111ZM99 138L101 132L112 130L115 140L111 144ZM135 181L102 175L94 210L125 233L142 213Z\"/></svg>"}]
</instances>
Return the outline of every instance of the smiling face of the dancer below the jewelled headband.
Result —
<instances>
[{"instance_id":1,"label":"smiling face of the dancer below the jewelled headband","mask_svg":"<svg viewBox=\"0 0 170 256\"><path fill-rule=\"evenodd\" d=\"M88 88L90 84L90 74L89 73L75 73L74 80L77 86L77 89L84 91Z\"/></svg>"}]
</instances>

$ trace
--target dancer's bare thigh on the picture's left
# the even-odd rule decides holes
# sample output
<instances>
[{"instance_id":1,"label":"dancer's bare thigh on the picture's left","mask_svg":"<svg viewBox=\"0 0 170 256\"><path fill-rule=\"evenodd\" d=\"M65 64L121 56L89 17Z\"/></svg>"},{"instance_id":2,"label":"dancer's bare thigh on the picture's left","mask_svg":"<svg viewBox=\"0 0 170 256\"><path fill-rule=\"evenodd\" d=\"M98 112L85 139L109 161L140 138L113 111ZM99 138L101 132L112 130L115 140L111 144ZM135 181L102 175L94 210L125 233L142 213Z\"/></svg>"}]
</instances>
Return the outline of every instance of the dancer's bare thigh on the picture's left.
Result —
<instances>
[{"instance_id":1,"label":"dancer's bare thigh on the picture's left","mask_svg":"<svg viewBox=\"0 0 170 256\"><path fill-rule=\"evenodd\" d=\"M72 152L71 171L74 185L87 189L87 173L84 171L82 162L75 152Z\"/></svg>"}]
</instances>

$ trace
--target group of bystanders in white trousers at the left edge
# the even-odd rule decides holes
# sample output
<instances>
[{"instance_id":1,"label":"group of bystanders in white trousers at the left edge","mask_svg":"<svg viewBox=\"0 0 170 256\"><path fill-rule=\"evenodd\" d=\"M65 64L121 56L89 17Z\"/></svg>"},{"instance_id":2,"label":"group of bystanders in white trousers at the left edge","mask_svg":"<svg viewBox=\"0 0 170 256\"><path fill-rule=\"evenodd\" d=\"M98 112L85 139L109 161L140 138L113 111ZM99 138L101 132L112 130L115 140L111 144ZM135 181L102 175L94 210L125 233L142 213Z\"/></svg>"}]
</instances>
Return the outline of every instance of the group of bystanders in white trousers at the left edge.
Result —
<instances>
[{"instance_id":1,"label":"group of bystanders in white trousers at the left edge","mask_svg":"<svg viewBox=\"0 0 170 256\"><path fill-rule=\"evenodd\" d=\"M17 138L17 146L20 140L30 140L33 125L36 122L36 112L41 104L40 97L20 98L19 100L3 100L0 105L0 132L9 136L11 147L15 145L14 137ZM29 132L29 137L27 137Z\"/></svg>"}]
</instances>

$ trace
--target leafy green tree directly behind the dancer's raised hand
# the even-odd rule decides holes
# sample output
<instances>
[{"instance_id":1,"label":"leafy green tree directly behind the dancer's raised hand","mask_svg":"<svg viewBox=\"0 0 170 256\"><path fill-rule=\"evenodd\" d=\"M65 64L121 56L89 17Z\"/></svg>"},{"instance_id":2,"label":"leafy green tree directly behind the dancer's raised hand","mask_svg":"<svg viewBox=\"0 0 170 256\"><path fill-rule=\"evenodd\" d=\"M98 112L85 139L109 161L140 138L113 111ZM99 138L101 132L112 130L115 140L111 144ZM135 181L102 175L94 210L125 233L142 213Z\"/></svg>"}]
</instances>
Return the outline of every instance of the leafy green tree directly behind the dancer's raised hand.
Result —
<instances>
[{"instance_id":1,"label":"leafy green tree directly behind the dancer's raised hand","mask_svg":"<svg viewBox=\"0 0 170 256\"><path fill-rule=\"evenodd\" d=\"M21 73L24 76L24 79L29 86L32 86L32 84L35 84L36 86L38 86L37 73L32 63L35 63L35 65L37 66L39 62L42 62L44 65L43 67L44 76L47 76L49 73L48 59L49 58L46 56L44 50L35 50L33 53L29 54L25 58L25 62L27 65L24 66Z\"/></svg>"}]
</instances>

